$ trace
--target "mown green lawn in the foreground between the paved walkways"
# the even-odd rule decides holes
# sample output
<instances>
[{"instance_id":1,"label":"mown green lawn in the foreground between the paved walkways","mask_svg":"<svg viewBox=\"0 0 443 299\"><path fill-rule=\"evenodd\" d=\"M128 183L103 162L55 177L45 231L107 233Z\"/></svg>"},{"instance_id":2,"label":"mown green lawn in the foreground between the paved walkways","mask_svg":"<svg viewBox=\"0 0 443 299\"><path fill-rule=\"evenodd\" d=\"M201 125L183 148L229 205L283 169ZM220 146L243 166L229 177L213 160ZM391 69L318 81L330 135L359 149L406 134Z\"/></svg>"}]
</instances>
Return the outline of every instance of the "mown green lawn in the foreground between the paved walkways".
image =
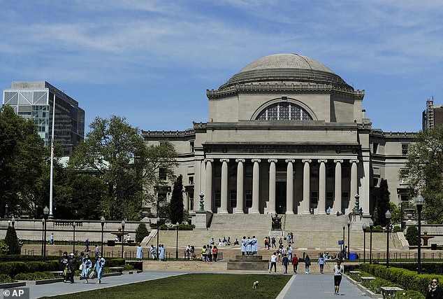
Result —
<instances>
[{"instance_id":1,"label":"mown green lawn in the foreground between the paved walkways","mask_svg":"<svg viewBox=\"0 0 443 299\"><path fill-rule=\"evenodd\" d=\"M184 274L51 298L276 298L291 276L279 274ZM254 281L259 288L252 288Z\"/></svg>"}]
</instances>

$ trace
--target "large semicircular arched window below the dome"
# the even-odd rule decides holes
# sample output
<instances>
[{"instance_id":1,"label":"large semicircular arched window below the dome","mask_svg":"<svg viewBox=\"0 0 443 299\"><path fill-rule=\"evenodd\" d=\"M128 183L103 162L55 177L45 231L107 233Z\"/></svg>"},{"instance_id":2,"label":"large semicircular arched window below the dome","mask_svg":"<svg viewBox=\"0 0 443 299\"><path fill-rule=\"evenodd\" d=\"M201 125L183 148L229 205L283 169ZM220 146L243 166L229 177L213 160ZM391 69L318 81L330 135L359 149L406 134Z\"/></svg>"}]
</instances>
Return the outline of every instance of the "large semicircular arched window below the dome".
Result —
<instances>
[{"instance_id":1,"label":"large semicircular arched window below the dome","mask_svg":"<svg viewBox=\"0 0 443 299\"><path fill-rule=\"evenodd\" d=\"M282 102L267 106L256 120L312 120L312 117L302 107Z\"/></svg>"}]
</instances>

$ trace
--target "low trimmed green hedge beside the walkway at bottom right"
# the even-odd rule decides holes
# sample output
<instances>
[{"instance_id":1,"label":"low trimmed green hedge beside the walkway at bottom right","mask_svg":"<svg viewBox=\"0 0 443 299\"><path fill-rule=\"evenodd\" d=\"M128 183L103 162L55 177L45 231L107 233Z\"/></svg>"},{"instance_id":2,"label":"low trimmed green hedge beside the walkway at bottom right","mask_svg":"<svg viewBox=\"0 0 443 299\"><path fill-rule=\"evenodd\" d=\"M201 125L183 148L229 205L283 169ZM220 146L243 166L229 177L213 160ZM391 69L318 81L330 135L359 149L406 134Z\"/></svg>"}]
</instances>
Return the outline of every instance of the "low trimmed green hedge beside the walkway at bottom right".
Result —
<instances>
[{"instance_id":1,"label":"low trimmed green hedge beside the walkway at bottom right","mask_svg":"<svg viewBox=\"0 0 443 299\"><path fill-rule=\"evenodd\" d=\"M368 272L375 277L386 279L399 284L405 290L419 291L423 295L428 292L428 286L433 277L438 277L443 281L443 275L437 274L417 274L415 271L398 267L386 267L384 265L361 264L361 270Z\"/></svg>"}]
</instances>

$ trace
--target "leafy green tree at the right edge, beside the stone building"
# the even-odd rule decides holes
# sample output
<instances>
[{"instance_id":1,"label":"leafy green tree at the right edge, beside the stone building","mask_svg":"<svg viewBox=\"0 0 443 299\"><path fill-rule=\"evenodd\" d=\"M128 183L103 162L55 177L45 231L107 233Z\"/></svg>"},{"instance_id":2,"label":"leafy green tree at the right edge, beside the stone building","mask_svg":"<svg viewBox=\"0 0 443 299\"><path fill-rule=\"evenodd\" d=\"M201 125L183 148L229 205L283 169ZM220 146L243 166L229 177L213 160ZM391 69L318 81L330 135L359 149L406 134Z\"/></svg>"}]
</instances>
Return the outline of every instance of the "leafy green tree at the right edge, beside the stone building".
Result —
<instances>
[{"instance_id":1,"label":"leafy green tree at the right edge, beside the stone building","mask_svg":"<svg viewBox=\"0 0 443 299\"><path fill-rule=\"evenodd\" d=\"M417 134L416 144L409 145L406 167L399 176L407 181L411 197L423 196L423 218L442 223L443 125Z\"/></svg>"}]
</instances>

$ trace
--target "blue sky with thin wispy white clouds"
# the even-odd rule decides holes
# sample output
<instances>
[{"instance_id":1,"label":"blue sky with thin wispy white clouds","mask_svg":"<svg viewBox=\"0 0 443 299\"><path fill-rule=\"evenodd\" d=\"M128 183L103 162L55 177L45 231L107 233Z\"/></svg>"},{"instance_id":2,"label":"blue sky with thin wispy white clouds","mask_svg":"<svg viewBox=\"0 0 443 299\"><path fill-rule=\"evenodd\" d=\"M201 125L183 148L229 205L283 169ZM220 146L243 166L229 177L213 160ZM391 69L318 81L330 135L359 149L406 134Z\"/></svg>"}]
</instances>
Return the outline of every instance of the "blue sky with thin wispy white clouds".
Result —
<instances>
[{"instance_id":1,"label":"blue sky with thin wispy white clouds","mask_svg":"<svg viewBox=\"0 0 443 299\"><path fill-rule=\"evenodd\" d=\"M0 88L48 81L87 125L186 130L208 120L206 89L298 53L365 90L373 128L414 132L426 99L443 104L442 20L440 0L0 0Z\"/></svg>"}]
</instances>

